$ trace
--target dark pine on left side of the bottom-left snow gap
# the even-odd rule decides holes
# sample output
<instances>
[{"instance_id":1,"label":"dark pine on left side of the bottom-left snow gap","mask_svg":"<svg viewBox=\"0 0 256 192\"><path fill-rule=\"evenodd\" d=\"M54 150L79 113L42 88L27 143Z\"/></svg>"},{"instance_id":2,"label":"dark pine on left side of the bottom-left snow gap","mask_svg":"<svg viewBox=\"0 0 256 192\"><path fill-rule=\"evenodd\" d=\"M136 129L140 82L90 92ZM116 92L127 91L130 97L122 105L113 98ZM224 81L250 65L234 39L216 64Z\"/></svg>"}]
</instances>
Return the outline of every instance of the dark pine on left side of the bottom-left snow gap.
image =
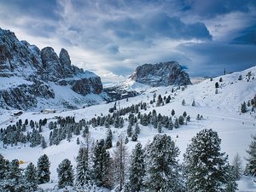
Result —
<instances>
[{"instance_id":1,"label":"dark pine on left side of the bottom-left snow gap","mask_svg":"<svg viewBox=\"0 0 256 192\"><path fill-rule=\"evenodd\" d=\"M37 166L37 177L38 183L48 183L49 182L49 158L46 154L43 154L38 159L38 166Z\"/></svg>"}]
</instances>

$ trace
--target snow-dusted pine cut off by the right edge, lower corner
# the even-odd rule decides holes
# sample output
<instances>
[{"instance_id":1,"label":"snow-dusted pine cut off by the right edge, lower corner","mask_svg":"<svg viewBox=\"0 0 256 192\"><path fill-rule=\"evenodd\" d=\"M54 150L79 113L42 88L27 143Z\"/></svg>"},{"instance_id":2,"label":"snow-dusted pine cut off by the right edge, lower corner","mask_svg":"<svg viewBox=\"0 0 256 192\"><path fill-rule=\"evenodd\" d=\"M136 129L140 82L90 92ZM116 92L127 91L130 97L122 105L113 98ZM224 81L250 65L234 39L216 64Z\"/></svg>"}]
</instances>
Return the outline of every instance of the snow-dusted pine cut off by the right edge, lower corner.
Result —
<instances>
[{"instance_id":1,"label":"snow-dusted pine cut off by the right edge, lower corner","mask_svg":"<svg viewBox=\"0 0 256 192\"><path fill-rule=\"evenodd\" d=\"M246 171L249 175L256 177L256 136L252 136L253 141L249 145L247 150L247 168Z\"/></svg>"}]
</instances>

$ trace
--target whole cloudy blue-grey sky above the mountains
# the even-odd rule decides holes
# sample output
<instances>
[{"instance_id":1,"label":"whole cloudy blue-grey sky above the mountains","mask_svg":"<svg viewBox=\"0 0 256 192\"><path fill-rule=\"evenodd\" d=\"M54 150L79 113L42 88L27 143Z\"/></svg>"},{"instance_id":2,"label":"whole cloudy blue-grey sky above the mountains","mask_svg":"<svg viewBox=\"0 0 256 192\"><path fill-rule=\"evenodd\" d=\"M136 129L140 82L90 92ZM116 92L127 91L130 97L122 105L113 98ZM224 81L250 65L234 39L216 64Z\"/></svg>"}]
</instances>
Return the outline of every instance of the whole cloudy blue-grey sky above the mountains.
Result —
<instances>
[{"instance_id":1,"label":"whole cloudy blue-grey sky above the mountains","mask_svg":"<svg viewBox=\"0 0 256 192\"><path fill-rule=\"evenodd\" d=\"M0 27L39 49L67 49L103 82L178 61L190 77L256 65L255 0L0 0Z\"/></svg>"}]
</instances>

